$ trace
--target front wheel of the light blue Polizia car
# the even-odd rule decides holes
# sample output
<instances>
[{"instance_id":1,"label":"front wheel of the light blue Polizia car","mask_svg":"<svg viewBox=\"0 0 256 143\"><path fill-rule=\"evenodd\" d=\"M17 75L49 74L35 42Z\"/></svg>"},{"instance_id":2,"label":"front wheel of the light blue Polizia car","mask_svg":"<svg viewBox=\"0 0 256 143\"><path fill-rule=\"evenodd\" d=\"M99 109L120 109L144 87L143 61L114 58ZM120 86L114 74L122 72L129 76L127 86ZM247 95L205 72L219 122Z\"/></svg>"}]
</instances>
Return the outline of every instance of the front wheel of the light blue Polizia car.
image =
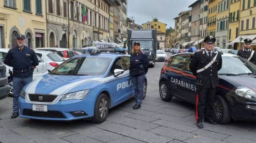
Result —
<instances>
[{"instance_id":1,"label":"front wheel of the light blue Polizia car","mask_svg":"<svg viewBox=\"0 0 256 143\"><path fill-rule=\"evenodd\" d=\"M102 123L106 120L108 115L108 97L101 93L95 103L94 116L92 122Z\"/></svg>"}]
</instances>

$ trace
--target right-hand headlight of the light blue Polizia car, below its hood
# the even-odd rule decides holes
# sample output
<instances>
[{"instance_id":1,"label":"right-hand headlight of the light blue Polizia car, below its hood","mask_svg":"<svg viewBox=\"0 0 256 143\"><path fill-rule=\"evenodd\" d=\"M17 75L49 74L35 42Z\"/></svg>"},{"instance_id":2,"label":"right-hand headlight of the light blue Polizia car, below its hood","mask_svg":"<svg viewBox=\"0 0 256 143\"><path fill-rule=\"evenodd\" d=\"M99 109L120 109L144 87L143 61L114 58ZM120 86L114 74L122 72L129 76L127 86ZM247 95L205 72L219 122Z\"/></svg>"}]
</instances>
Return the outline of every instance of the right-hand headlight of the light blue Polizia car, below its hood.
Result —
<instances>
[{"instance_id":1,"label":"right-hand headlight of the light blue Polizia car, below its hood","mask_svg":"<svg viewBox=\"0 0 256 143\"><path fill-rule=\"evenodd\" d=\"M89 93L89 89L81 90L74 93L67 93L61 97L61 101L69 100L69 99L84 99L86 95Z\"/></svg>"}]
</instances>

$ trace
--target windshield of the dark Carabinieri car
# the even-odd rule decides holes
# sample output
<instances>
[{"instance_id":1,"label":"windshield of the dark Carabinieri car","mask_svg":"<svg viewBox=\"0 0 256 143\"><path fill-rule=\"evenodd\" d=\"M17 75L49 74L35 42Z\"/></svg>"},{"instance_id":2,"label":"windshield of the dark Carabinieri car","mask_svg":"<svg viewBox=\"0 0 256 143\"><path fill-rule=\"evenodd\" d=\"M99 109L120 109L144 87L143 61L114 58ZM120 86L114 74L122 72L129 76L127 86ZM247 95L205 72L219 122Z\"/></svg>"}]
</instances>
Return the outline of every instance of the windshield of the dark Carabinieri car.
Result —
<instances>
[{"instance_id":1,"label":"windshield of the dark Carabinieri car","mask_svg":"<svg viewBox=\"0 0 256 143\"><path fill-rule=\"evenodd\" d=\"M242 57L222 56L222 67L218 73L230 76L256 74L256 65Z\"/></svg>"}]
</instances>

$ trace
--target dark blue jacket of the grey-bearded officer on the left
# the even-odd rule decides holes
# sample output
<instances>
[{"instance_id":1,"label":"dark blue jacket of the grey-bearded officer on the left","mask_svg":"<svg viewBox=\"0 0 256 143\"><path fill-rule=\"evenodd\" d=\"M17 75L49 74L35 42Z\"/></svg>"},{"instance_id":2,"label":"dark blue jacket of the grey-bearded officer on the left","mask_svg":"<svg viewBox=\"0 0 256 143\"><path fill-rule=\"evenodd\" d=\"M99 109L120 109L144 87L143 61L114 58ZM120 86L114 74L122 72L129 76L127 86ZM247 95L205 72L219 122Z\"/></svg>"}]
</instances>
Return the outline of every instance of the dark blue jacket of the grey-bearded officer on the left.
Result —
<instances>
[{"instance_id":1,"label":"dark blue jacket of the grey-bearded officer on the left","mask_svg":"<svg viewBox=\"0 0 256 143\"><path fill-rule=\"evenodd\" d=\"M33 66L37 66L39 62L34 50L27 46L21 50L17 46L9 50L4 64L13 67L13 77L26 78L33 75Z\"/></svg>"}]
</instances>

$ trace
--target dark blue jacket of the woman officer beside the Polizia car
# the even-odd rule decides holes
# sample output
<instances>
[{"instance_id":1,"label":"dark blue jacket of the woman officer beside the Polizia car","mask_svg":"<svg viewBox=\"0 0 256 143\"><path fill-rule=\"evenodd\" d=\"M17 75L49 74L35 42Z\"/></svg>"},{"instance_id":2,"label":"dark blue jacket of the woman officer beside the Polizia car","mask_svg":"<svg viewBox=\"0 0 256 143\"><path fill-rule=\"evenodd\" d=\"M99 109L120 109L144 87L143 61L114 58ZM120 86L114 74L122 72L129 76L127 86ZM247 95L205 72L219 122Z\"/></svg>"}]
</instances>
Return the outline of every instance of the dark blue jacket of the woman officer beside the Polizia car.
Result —
<instances>
[{"instance_id":1,"label":"dark blue jacket of the woman officer beside the Polizia car","mask_svg":"<svg viewBox=\"0 0 256 143\"><path fill-rule=\"evenodd\" d=\"M139 52L130 57L130 75L139 76L148 72L148 57L145 53Z\"/></svg>"}]
</instances>

